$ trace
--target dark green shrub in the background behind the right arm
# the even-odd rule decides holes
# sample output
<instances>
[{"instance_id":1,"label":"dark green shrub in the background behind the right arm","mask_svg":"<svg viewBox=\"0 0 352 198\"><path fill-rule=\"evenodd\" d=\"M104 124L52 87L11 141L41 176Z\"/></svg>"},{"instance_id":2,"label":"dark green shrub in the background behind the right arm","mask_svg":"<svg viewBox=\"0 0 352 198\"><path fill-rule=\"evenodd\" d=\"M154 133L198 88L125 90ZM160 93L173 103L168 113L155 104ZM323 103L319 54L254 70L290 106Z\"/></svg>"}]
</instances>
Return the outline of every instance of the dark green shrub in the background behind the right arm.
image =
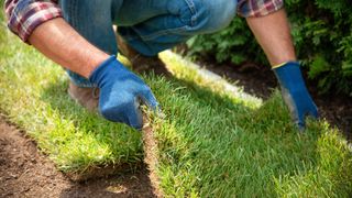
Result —
<instances>
[{"instance_id":1,"label":"dark green shrub in the background behind the right arm","mask_svg":"<svg viewBox=\"0 0 352 198\"><path fill-rule=\"evenodd\" d=\"M298 58L320 92L352 96L352 7L349 0L286 0ZM235 18L223 31L188 43L189 55L215 56L235 65L253 61L267 65L245 20Z\"/></svg>"}]
</instances>

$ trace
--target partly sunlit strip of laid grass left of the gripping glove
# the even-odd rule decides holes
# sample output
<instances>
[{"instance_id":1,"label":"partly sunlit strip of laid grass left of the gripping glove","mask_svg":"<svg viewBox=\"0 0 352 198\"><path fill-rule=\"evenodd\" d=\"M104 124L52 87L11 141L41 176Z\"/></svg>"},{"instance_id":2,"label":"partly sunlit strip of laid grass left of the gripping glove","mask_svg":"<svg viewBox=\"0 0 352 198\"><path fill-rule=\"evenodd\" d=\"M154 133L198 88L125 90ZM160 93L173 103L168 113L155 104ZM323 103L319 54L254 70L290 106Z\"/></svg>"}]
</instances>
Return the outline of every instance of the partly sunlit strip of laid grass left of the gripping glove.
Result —
<instances>
[{"instance_id":1,"label":"partly sunlit strip of laid grass left of the gripping glove","mask_svg":"<svg viewBox=\"0 0 352 198\"><path fill-rule=\"evenodd\" d=\"M6 31L3 21L0 31L0 108L59 169L142 161L139 132L77 106L66 94L68 80L61 67Z\"/></svg>"}]
</instances>

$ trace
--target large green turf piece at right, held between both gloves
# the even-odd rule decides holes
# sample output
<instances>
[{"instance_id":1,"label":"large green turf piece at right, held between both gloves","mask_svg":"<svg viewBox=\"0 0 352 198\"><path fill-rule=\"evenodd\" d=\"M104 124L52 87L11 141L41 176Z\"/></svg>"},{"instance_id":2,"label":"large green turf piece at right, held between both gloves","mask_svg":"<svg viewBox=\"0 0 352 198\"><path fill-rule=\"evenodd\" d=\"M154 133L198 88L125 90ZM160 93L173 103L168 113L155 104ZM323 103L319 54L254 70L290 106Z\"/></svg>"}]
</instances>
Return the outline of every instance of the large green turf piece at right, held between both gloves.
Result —
<instances>
[{"instance_id":1,"label":"large green turf piece at right, held between both gloves","mask_svg":"<svg viewBox=\"0 0 352 198\"><path fill-rule=\"evenodd\" d=\"M309 121L306 133L300 134L289 122L278 91L263 105L221 89L217 94L221 85L209 84L194 72L184 73L187 65L170 54L162 57L187 85L158 96L169 116L155 131L158 175L166 195L352 195L352 154L338 130L323 121ZM167 91L162 89L156 88Z\"/></svg>"}]
</instances>

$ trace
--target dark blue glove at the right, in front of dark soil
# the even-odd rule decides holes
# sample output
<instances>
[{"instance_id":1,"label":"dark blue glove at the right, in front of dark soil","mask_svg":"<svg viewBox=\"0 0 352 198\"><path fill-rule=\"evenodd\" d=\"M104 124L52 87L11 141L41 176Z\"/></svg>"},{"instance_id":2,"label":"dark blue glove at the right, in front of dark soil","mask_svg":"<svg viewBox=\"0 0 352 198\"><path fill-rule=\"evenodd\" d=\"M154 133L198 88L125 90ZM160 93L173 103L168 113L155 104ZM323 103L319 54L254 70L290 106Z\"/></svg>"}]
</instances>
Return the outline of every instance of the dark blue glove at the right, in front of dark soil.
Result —
<instances>
[{"instance_id":1,"label":"dark blue glove at the right, in front of dark soil","mask_svg":"<svg viewBox=\"0 0 352 198\"><path fill-rule=\"evenodd\" d=\"M318 109L312 101L299 69L299 63L288 62L273 68L280 88L284 101L299 130L305 129L306 116L318 118Z\"/></svg>"}]
</instances>

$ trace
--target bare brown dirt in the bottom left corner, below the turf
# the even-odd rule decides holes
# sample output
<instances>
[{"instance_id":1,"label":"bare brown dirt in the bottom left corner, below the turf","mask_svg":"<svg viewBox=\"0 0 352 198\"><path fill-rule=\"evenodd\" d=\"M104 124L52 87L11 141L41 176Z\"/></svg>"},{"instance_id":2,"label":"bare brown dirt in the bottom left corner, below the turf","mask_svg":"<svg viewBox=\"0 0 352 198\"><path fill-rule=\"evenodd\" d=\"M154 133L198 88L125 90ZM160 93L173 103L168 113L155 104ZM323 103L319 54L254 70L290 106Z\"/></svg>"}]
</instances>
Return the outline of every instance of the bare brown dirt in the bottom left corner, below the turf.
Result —
<instances>
[{"instance_id":1,"label":"bare brown dirt in the bottom left corner, below the turf","mask_svg":"<svg viewBox=\"0 0 352 198\"><path fill-rule=\"evenodd\" d=\"M146 168L74 183L0 117L0 197L155 197Z\"/></svg>"}]
</instances>

